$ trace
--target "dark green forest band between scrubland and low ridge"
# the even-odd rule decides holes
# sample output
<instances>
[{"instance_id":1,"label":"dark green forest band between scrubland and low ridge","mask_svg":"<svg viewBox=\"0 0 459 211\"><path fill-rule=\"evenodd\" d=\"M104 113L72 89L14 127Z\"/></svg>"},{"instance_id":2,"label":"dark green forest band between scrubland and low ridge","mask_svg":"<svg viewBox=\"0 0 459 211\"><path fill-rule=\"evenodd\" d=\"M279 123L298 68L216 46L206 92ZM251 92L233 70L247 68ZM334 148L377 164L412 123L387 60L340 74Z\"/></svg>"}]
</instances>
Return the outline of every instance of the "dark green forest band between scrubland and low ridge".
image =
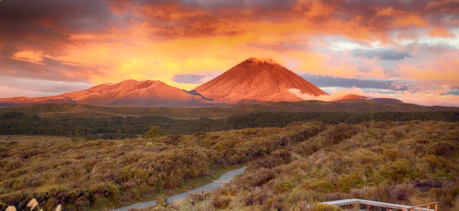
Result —
<instances>
[{"instance_id":1,"label":"dark green forest band between scrubland and low ridge","mask_svg":"<svg viewBox=\"0 0 459 211\"><path fill-rule=\"evenodd\" d=\"M61 135L71 136L80 130L86 140L143 137L151 126L160 126L163 135L190 135L258 127L285 127L292 122L324 122L326 124L359 124L374 121L459 121L459 112L254 112L226 119L172 119L159 116L112 118L40 118L20 112L0 114L0 135Z\"/></svg>"}]
</instances>

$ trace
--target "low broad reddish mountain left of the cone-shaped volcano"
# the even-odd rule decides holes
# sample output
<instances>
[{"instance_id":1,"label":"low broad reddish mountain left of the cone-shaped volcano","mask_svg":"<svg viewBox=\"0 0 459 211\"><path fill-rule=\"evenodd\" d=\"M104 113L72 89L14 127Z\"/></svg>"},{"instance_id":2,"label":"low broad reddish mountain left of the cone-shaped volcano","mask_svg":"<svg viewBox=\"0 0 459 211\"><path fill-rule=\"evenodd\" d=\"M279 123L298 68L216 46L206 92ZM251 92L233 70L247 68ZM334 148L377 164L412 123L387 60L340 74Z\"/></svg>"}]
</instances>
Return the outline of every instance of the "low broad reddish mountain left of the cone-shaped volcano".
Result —
<instances>
[{"instance_id":1,"label":"low broad reddish mountain left of the cone-shaped volcano","mask_svg":"<svg viewBox=\"0 0 459 211\"><path fill-rule=\"evenodd\" d=\"M209 101L162 81L126 80L49 97L0 98L0 106L34 103L86 103L106 106L203 106Z\"/></svg>"}]
</instances>

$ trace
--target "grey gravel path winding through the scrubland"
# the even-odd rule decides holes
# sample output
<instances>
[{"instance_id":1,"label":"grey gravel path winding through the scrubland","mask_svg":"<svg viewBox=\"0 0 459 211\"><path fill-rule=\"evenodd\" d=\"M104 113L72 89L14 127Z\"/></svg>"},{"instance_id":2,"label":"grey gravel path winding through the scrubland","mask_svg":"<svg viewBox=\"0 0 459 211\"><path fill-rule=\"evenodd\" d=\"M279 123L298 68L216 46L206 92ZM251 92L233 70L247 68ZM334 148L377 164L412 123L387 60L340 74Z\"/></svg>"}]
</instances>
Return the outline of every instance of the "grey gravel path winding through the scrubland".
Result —
<instances>
[{"instance_id":1,"label":"grey gravel path winding through the scrubland","mask_svg":"<svg viewBox=\"0 0 459 211\"><path fill-rule=\"evenodd\" d=\"M242 167L242 168L239 168L239 169L227 172L227 173L223 173L220 176L220 178L218 178L217 180L214 180L214 181L231 181L234 178L235 175L239 175L239 174L244 173L245 169L246 169L246 167ZM179 193L179 194L176 194L176 195L171 195L171 196L168 197L168 203L172 203L172 202L175 202L175 201L178 201L178 200L186 199L188 197L188 195L190 195L190 193L201 193L204 190L210 191L210 190L217 189L218 187L221 187L223 185L224 184L213 183L212 182L212 183L202 185L200 187L197 187L195 189L192 189L192 190L189 190L189 191L186 191L186 192L182 192L182 193ZM113 210L110 210L110 211L128 211L130 208L134 208L134 207L139 208L139 209L143 209L143 208L147 208L147 207L155 206L155 205L156 205L156 200L152 200L152 201L135 203L135 204L132 204L132 205L129 205L129 206L120 207L120 208L113 209Z\"/></svg>"}]
</instances>

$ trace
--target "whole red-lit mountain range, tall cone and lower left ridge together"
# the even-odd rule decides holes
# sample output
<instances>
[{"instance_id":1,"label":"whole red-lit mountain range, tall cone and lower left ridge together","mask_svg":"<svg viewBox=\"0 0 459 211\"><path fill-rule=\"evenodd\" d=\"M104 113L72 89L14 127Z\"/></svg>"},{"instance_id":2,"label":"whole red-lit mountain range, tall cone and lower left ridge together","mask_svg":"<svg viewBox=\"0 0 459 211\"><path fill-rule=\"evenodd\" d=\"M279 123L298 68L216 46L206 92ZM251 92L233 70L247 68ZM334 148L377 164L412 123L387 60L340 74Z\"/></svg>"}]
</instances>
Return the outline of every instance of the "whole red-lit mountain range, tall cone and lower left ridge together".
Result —
<instances>
[{"instance_id":1,"label":"whole red-lit mountain range, tall cone and lower left ridge together","mask_svg":"<svg viewBox=\"0 0 459 211\"><path fill-rule=\"evenodd\" d=\"M301 101L289 89L328 95L272 59L249 58L215 79L185 91L162 81L126 80L47 97L0 98L0 106L34 103L85 103L105 106L224 106L229 103Z\"/></svg>"}]
</instances>

